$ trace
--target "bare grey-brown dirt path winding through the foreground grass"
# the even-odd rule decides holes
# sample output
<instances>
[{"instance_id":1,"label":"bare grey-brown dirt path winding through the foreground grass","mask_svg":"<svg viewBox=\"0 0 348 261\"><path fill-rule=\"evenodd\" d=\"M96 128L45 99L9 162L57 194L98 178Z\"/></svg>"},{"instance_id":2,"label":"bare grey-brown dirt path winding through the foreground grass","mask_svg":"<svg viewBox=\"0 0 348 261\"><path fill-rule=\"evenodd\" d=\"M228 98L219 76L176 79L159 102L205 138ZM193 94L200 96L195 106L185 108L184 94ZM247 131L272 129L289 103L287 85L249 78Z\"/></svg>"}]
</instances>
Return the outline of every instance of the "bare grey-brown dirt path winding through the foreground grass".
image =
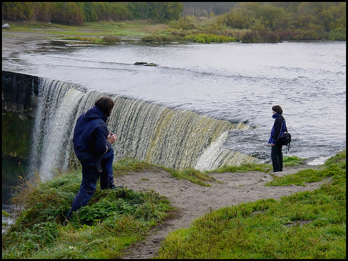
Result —
<instances>
[{"instance_id":1,"label":"bare grey-brown dirt path winding through the foreground grass","mask_svg":"<svg viewBox=\"0 0 348 261\"><path fill-rule=\"evenodd\" d=\"M316 168L315 166L287 167L281 173L292 174L300 169ZM325 181L303 186L269 187L264 183L273 179L263 172L220 173L209 174L224 183L209 182L211 187L202 187L187 180L178 180L169 173L158 169L156 172L129 173L115 177L116 184L124 184L127 188L141 191L154 190L166 196L172 205L179 210L178 215L154 228L147 239L130 247L123 259L149 259L159 250L161 241L177 229L189 227L194 219L202 216L209 208L216 210L226 205L251 202L259 199L280 199L300 191L314 190ZM143 179L142 179L143 178ZM148 179L148 180L144 180Z\"/></svg>"}]
</instances>

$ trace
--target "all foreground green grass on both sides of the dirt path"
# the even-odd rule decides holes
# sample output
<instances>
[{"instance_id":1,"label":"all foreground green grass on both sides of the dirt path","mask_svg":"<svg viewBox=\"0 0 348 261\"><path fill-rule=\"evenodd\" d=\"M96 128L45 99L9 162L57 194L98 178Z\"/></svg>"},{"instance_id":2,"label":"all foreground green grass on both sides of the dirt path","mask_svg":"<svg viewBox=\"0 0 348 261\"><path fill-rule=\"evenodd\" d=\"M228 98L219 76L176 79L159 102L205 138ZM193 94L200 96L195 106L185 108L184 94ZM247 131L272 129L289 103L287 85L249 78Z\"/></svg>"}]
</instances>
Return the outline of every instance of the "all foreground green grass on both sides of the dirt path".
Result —
<instances>
[{"instance_id":1,"label":"all foreground green grass on both sides of the dirt path","mask_svg":"<svg viewBox=\"0 0 348 261\"><path fill-rule=\"evenodd\" d=\"M286 161L297 165L303 159L288 157ZM114 173L151 168L160 167L128 157L114 164ZM265 168L261 164L229 170L266 172ZM191 169L172 172L189 180L195 175L195 179L207 176ZM280 201L265 199L209 211L189 229L171 233L157 258L345 258L346 150L312 174L315 180L308 180L303 172L289 176L298 179L299 185L326 177L331 181L316 191L296 193ZM119 258L129 245L144 239L150 228L175 215L170 203L154 191L101 190L98 186L89 204L65 227L64 215L81 178L77 169L58 174L51 181L21 187L14 199L20 209L18 218L2 235L2 259ZM269 185L287 186L294 179L285 176Z\"/></svg>"}]
</instances>

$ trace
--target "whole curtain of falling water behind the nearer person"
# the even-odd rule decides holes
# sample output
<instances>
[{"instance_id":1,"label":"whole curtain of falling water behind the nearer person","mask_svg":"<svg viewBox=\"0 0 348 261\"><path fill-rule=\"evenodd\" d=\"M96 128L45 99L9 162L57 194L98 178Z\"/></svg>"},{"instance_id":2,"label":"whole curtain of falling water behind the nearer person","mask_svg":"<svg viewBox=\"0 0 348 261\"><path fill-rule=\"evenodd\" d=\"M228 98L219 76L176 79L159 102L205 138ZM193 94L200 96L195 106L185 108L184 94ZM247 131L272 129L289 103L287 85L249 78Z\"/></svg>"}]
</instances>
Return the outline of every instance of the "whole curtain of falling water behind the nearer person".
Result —
<instances>
[{"instance_id":1,"label":"whole curtain of falling water behind the nearer person","mask_svg":"<svg viewBox=\"0 0 348 261\"><path fill-rule=\"evenodd\" d=\"M30 152L30 166L41 179L54 168L68 167L69 142L77 118L104 93L57 80L39 79L39 103ZM227 131L251 129L192 111L173 110L142 100L111 96L115 106L108 129L117 134L115 160L133 156L169 168L211 170L256 159L223 148Z\"/></svg>"}]
</instances>

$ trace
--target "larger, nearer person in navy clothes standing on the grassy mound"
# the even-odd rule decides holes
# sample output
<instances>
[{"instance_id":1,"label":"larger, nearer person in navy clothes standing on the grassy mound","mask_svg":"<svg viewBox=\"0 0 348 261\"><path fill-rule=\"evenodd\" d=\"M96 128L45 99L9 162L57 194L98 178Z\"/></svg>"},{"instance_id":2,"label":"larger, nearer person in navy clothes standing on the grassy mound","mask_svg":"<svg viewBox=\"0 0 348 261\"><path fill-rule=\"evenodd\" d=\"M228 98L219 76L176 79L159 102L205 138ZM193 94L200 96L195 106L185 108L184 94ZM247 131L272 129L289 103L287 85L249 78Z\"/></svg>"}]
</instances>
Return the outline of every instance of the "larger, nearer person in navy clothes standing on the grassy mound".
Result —
<instances>
[{"instance_id":1,"label":"larger, nearer person in navy clothes standing on the grassy mound","mask_svg":"<svg viewBox=\"0 0 348 261\"><path fill-rule=\"evenodd\" d=\"M87 205L95 193L99 177L101 189L115 188L111 144L116 142L117 135L110 133L106 126L113 107L111 98L101 97L76 122L73 142L75 154L82 165L82 183L68 212L68 220L73 212Z\"/></svg>"}]
</instances>

